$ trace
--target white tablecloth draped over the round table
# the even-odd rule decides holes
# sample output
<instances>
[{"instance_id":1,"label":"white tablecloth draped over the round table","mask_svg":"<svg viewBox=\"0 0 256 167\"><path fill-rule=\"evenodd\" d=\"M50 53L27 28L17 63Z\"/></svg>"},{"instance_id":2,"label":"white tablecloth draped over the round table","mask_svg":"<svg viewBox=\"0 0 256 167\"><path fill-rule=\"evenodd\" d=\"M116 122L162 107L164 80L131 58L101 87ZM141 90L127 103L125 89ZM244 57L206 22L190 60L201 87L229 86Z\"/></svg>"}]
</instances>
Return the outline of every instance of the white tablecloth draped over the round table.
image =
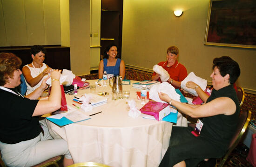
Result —
<instances>
[{"instance_id":1,"label":"white tablecloth draped over the round table","mask_svg":"<svg viewBox=\"0 0 256 167\"><path fill-rule=\"evenodd\" d=\"M89 80L94 84L97 80ZM135 100L136 107L143 105L137 99L136 89L131 85L123 85L123 90L130 91L128 100ZM94 161L111 167L158 167L168 146L172 123L144 119L142 116L128 116L129 106L126 99L111 100L112 89L96 87L96 90L78 90L78 95L84 93L108 92L108 103L95 107L86 114L92 119L58 127L47 121L50 133L54 138L59 136L67 140L69 151L75 163ZM66 95L67 104L72 106L75 95ZM79 106L79 104L76 103ZM80 109L81 110L81 109ZM83 112L81 110L81 112ZM187 119L178 114L177 126L187 126Z\"/></svg>"}]
</instances>

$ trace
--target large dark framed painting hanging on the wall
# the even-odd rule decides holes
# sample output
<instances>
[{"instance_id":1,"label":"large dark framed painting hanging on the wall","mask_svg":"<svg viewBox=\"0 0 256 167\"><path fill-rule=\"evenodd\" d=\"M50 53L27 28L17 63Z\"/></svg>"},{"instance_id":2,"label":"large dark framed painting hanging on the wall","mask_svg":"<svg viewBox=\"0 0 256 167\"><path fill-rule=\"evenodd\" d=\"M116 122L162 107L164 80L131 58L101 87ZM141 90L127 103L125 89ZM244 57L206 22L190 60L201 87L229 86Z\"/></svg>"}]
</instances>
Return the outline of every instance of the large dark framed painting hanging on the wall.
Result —
<instances>
[{"instance_id":1,"label":"large dark framed painting hanging on the wall","mask_svg":"<svg viewBox=\"0 0 256 167\"><path fill-rule=\"evenodd\" d=\"M256 0L210 0L204 44L256 48Z\"/></svg>"}]
</instances>

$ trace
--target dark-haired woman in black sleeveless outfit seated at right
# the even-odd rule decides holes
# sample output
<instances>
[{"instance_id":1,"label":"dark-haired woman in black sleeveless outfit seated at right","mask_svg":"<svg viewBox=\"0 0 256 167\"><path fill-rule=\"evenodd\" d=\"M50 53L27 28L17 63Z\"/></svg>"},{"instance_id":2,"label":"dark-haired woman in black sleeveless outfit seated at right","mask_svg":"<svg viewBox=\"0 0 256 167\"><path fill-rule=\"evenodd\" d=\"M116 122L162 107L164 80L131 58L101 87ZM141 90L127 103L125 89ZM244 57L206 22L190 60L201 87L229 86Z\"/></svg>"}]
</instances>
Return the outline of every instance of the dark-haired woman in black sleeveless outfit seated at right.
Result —
<instances>
[{"instance_id":1,"label":"dark-haired woman in black sleeveless outfit seated at right","mask_svg":"<svg viewBox=\"0 0 256 167\"><path fill-rule=\"evenodd\" d=\"M203 105L188 105L159 93L179 112L193 118L202 118L201 126L173 127L170 145L159 167L196 167L206 158L222 157L234 135L240 112L233 83L240 75L236 61L226 57L213 60L211 74L213 91ZM198 124L197 124L198 125Z\"/></svg>"}]
</instances>

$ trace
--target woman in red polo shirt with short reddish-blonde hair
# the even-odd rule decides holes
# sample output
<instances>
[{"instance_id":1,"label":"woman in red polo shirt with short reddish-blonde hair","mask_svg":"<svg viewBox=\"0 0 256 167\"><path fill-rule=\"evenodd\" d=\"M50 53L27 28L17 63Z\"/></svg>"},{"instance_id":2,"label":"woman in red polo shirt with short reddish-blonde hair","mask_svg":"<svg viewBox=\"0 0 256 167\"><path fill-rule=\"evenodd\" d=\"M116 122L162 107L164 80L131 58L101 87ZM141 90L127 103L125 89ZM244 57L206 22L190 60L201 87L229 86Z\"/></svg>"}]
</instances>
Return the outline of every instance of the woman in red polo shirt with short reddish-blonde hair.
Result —
<instances>
[{"instance_id":1,"label":"woman in red polo shirt with short reddish-blonde hair","mask_svg":"<svg viewBox=\"0 0 256 167\"><path fill-rule=\"evenodd\" d=\"M158 63L158 65L163 67L170 75L170 78L167 81L172 84L175 89L181 88L181 82L187 77L188 73L186 67L177 60L179 49L178 47L172 46L167 49L166 53L167 60ZM160 74L154 72L152 74L152 80L161 81Z\"/></svg>"}]
</instances>

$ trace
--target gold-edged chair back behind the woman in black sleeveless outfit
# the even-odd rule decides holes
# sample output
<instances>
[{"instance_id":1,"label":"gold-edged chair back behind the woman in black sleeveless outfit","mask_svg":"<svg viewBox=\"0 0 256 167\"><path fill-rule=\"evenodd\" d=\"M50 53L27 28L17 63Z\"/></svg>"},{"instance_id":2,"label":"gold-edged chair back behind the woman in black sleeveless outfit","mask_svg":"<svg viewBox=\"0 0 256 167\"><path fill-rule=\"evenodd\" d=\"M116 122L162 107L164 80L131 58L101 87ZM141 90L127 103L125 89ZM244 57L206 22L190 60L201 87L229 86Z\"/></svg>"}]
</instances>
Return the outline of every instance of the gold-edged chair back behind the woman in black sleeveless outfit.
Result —
<instances>
[{"instance_id":1,"label":"gold-edged chair back behind the woman in black sleeveless outfit","mask_svg":"<svg viewBox=\"0 0 256 167\"><path fill-rule=\"evenodd\" d=\"M227 153L223 156L223 158L219 159L219 166L217 166L218 163L216 163L216 167L223 167L225 164L226 160L229 157L229 154L233 151L233 149L237 146L239 141L241 140L245 130L247 129L249 125L249 121L251 118L251 111L248 110L248 112L241 112L236 128L235 135L231 139L231 142L229 144L229 148ZM218 160L217 160L218 161Z\"/></svg>"}]
</instances>

